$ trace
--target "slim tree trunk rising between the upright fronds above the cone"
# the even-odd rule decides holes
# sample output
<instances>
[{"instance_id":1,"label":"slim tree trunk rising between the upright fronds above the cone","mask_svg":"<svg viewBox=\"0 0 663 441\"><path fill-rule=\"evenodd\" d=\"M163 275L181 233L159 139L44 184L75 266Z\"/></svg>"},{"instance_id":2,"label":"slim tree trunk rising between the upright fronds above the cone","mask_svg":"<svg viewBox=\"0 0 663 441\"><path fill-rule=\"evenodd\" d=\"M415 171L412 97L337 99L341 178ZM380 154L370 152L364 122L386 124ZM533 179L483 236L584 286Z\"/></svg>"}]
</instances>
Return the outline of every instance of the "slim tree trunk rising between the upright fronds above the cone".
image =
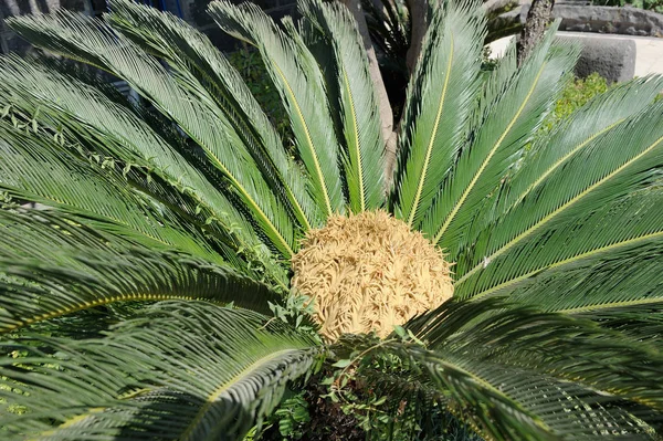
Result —
<instances>
[{"instance_id":1,"label":"slim tree trunk rising between the upright fronds above the cone","mask_svg":"<svg viewBox=\"0 0 663 441\"><path fill-rule=\"evenodd\" d=\"M361 0L340 0L352 13L359 34L364 41L364 48L368 56L368 71L370 80L376 87L376 94L378 98L378 109L380 113L380 122L382 126L382 138L385 139L385 187L386 190L391 187L393 167L396 165L396 133L393 132L393 114L391 111L391 103L389 103L389 96L387 95L387 88L385 87L385 81L380 73L380 65L376 56L376 50L373 49L370 40L370 33L368 32L368 24L366 23L366 17L364 17L364 9L361 8Z\"/></svg>"}]
</instances>

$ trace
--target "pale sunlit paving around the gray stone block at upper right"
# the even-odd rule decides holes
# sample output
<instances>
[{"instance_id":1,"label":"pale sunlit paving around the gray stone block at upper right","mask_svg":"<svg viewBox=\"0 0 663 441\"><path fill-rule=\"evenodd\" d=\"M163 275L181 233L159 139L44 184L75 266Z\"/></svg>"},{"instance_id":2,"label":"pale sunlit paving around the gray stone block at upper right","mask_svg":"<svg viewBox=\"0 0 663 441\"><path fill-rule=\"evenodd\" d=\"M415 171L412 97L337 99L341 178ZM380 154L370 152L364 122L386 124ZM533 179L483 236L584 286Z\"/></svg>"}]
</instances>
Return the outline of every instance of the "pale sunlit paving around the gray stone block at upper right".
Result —
<instances>
[{"instance_id":1,"label":"pale sunlit paving around the gray stone block at upper right","mask_svg":"<svg viewBox=\"0 0 663 441\"><path fill-rule=\"evenodd\" d=\"M663 39L653 36L614 35L593 32L558 32L559 35L578 38L601 38L614 40L632 40L635 42L635 76L663 74ZM498 57L513 36L506 36L490 44L492 56Z\"/></svg>"}]
</instances>

